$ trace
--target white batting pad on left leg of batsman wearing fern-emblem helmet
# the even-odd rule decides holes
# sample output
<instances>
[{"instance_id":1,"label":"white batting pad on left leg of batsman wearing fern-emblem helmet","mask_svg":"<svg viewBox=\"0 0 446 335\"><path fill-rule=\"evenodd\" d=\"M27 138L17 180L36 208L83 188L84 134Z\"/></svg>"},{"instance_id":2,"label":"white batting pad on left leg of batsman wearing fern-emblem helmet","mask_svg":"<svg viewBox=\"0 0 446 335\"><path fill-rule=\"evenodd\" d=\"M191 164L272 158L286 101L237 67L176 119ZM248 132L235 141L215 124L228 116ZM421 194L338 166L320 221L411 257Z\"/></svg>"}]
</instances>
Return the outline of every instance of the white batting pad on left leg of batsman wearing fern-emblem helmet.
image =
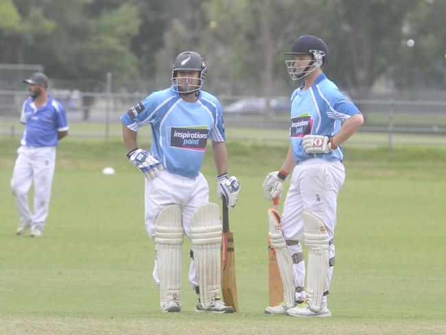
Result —
<instances>
[{"instance_id":1,"label":"white batting pad on left leg of batsman wearing fern-emblem helmet","mask_svg":"<svg viewBox=\"0 0 446 335\"><path fill-rule=\"evenodd\" d=\"M155 249L160 281L160 306L181 298L181 244L183 243L181 207L170 205L156 218Z\"/></svg>"}]
</instances>

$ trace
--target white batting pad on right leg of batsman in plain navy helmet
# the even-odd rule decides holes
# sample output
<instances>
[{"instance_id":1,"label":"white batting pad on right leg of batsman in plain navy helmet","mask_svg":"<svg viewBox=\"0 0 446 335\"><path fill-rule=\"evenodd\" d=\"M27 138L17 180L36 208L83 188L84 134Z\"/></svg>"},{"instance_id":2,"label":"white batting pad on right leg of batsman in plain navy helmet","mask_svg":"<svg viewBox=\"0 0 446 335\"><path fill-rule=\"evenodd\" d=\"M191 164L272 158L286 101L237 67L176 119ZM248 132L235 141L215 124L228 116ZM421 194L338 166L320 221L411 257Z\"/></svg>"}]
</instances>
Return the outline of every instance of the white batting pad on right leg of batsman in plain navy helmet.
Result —
<instances>
[{"instance_id":1,"label":"white batting pad on right leg of batsman in plain navy helmet","mask_svg":"<svg viewBox=\"0 0 446 335\"><path fill-rule=\"evenodd\" d=\"M324 223L309 211L303 211L303 240L308 250L307 303L319 312L327 284L329 236Z\"/></svg>"}]
</instances>

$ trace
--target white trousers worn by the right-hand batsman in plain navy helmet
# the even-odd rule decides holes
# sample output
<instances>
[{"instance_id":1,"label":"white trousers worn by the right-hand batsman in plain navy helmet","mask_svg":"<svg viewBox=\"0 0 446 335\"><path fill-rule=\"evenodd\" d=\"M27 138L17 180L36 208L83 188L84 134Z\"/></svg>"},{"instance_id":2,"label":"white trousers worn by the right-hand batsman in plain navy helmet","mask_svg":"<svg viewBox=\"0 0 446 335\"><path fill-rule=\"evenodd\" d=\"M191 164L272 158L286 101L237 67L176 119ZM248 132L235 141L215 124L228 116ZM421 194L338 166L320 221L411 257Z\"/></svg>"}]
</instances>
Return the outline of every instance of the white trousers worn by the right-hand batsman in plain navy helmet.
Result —
<instances>
[{"instance_id":1,"label":"white trousers worn by the right-hand batsman in plain navy helmet","mask_svg":"<svg viewBox=\"0 0 446 335\"><path fill-rule=\"evenodd\" d=\"M303 210L315 213L324 222L330 240L334 238L336 227L336 205L338 192L344 183L344 165L340 161L323 161L308 159L294 167L290 189L283 205L281 230L286 240L297 240L299 243L288 245L291 255L302 253ZM335 246L329 247L330 263L334 264ZM303 287L305 281L305 262L293 266L294 284ZM329 267L327 288L329 289L333 266Z\"/></svg>"}]
</instances>

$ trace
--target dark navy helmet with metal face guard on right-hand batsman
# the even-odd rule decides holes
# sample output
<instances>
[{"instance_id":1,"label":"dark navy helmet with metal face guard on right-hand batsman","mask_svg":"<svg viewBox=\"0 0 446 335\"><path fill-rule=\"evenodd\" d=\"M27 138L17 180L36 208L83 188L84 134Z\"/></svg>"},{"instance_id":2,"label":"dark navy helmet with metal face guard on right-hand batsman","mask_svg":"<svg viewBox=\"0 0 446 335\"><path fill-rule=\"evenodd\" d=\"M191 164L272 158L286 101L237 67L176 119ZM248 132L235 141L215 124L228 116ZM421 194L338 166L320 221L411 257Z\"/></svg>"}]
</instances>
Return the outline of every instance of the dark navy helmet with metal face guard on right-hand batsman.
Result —
<instances>
[{"instance_id":1,"label":"dark navy helmet with metal face guard on right-hand batsman","mask_svg":"<svg viewBox=\"0 0 446 335\"><path fill-rule=\"evenodd\" d=\"M312 60L286 60L288 73L292 80L299 80L308 76L316 69L328 62L329 52L327 45L320 38L312 35L299 36L294 41L292 51L285 55L310 55ZM306 64L305 64L306 62Z\"/></svg>"}]
</instances>

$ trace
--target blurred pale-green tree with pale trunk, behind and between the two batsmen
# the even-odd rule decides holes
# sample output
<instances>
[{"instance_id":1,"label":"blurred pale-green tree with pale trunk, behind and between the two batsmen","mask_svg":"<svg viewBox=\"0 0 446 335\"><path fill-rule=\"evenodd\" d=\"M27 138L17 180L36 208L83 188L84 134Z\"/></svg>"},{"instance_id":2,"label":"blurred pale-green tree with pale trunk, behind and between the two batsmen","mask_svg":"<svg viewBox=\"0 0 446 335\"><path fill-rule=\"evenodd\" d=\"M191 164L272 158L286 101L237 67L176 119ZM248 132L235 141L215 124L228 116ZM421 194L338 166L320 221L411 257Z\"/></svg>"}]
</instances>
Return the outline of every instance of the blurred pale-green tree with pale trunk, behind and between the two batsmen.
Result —
<instances>
[{"instance_id":1,"label":"blurred pale-green tree with pale trunk, behind and between the two batsmen","mask_svg":"<svg viewBox=\"0 0 446 335\"><path fill-rule=\"evenodd\" d=\"M320 21L331 12L333 1L213 0L207 3L211 45L218 64L228 69L221 80L231 82L228 93L263 96L287 95L290 88L285 56L302 34L318 34ZM215 56L215 54L213 56ZM253 82L260 85L253 86Z\"/></svg>"}]
</instances>

